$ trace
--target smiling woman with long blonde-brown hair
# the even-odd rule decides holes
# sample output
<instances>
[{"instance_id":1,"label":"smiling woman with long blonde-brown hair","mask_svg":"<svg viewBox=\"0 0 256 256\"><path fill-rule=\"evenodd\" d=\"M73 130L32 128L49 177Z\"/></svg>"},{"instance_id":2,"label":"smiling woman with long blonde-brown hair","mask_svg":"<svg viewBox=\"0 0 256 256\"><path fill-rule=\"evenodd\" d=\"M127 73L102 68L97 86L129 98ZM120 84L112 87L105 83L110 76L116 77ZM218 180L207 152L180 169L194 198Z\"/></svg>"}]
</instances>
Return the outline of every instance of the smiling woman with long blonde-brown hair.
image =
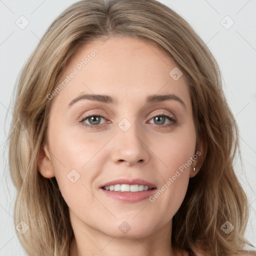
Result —
<instances>
[{"instance_id":1,"label":"smiling woman with long blonde-brown hair","mask_svg":"<svg viewBox=\"0 0 256 256\"><path fill-rule=\"evenodd\" d=\"M220 72L155 0L85 0L20 75L9 134L28 255L253 255Z\"/></svg>"}]
</instances>

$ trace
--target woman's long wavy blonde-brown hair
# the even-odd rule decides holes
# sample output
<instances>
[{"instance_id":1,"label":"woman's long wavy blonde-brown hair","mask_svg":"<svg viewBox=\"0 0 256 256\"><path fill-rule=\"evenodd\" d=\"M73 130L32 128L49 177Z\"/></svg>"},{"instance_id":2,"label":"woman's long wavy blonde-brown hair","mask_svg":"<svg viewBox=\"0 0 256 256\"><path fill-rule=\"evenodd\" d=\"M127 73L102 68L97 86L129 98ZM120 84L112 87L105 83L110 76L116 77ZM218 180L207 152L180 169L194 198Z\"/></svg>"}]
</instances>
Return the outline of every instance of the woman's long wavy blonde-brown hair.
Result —
<instances>
[{"instance_id":1,"label":"woman's long wavy blonde-brown hair","mask_svg":"<svg viewBox=\"0 0 256 256\"><path fill-rule=\"evenodd\" d=\"M30 256L69 254L74 236L68 207L55 177L44 178L37 169L47 132L47 95L80 45L114 35L150 41L174 61L189 88L197 139L207 143L203 165L173 217L173 247L193 255L202 250L211 256L239 255L250 244L243 237L248 203L233 169L240 153L238 128L221 74L191 26L155 0L78 1L52 22L24 65L9 132L9 166L17 189L14 219L28 227L24 234L17 232L21 244ZM234 226L228 234L221 230L225 221Z\"/></svg>"}]
</instances>

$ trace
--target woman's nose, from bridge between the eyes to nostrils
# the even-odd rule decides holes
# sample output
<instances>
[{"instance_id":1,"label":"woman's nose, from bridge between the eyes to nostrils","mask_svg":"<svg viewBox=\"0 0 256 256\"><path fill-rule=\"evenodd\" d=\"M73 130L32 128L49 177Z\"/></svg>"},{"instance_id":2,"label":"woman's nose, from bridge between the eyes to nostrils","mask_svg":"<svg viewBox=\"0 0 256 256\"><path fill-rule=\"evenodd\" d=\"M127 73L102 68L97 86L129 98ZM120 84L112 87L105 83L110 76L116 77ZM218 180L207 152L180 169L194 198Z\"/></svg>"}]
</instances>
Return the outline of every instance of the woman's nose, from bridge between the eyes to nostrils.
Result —
<instances>
[{"instance_id":1,"label":"woman's nose, from bridge between the eyes to nostrils","mask_svg":"<svg viewBox=\"0 0 256 256\"><path fill-rule=\"evenodd\" d=\"M128 119L129 118L129 119ZM137 161L148 161L149 152L145 136L135 116L122 118L117 124L117 134L112 148L113 161L126 161L134 164Z\"/></svg>"}]
</instances>

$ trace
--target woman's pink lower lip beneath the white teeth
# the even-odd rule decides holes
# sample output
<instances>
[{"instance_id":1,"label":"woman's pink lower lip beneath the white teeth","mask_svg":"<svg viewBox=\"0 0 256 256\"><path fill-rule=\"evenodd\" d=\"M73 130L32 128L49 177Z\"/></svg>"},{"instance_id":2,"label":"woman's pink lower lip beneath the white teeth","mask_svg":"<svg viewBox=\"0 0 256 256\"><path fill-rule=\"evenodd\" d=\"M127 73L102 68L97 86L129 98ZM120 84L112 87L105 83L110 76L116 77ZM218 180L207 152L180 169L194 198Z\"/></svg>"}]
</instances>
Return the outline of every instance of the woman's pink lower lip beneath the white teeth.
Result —
<instances>
[{"instance_id":1,"label":"woman's pink lower lip beneath the white teeth","mask_svg":"<svg viewBox=\"0 0 256 256\"><path fill-rule=\"evenodd\" d=\"M146 191L138 192L120 192L120 191L110 191L100 188L103 193L113 199L117 199L123 202L138 202L148 198L155 193L156 188Z\"/></svg>"}]
</instances>

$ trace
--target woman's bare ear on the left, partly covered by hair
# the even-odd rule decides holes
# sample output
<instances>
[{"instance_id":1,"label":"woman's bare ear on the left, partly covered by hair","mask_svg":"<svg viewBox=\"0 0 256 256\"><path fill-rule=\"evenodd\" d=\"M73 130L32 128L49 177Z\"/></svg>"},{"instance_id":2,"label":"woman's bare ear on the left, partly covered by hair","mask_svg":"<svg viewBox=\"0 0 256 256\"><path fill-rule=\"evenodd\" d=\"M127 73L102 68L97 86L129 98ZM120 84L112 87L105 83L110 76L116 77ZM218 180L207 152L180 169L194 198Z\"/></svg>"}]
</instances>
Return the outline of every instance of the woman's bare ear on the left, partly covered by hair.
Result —
<instances>
[{"instance_id":1,"label":"woman's bare ear on the left, partly covered by hair","mask_svg":"<svg viewBox=\"0 0 256 256\"><path fill-rule=\"evenodd\" d=\"M49 149L46 143L44 143L39 150L37 158L37 168L41 175L45 178L51 178L55 176Z\"/></svg>"}]
</instances>

